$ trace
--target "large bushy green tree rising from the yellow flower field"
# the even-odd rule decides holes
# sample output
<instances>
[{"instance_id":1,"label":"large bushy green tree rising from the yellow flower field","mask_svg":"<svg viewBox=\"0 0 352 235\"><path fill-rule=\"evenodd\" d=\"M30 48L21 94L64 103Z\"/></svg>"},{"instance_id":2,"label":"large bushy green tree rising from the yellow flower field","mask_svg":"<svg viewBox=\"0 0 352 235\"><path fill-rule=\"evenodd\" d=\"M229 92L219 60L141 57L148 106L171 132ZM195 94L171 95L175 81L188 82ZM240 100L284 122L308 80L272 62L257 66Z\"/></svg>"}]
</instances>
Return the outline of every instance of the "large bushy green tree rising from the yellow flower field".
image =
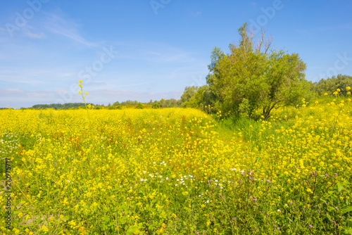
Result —
<instances>
[{"instance_id":1,"label":"large bushy green tree rising from the yellow flower field","mask_svg":"<svg viewBox=\"0 0 352 235\"><path fill-rule=\"evenodd\" d=\"M271 39L254 42L254 32L239 28L241 40L225 54L215 47L208 66L207 84L215 95L215 107L223 113L247 113L260 108L266 118L279 106L298 103L309 91L304 79L306 64L296 53L270 50Z\"/></svg>"}]
</instances>

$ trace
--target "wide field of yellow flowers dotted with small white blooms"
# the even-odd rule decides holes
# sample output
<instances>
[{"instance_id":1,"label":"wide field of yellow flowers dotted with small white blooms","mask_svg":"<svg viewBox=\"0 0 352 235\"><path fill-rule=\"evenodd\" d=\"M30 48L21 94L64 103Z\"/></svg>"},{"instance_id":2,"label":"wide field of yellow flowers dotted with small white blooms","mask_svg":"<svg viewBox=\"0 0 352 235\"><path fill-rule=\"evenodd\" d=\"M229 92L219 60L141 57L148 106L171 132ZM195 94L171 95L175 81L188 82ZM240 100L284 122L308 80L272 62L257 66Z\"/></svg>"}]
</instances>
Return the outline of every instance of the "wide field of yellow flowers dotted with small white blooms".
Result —
<instances>
[{"instance_id":1,"label":"wide field of yellow flowers dotted with small white blooms","mask_svg":"<svg viewBox=\"0 0 352 235\"><path fill-rule=\"evenodd\" d=\"M351 107L0 110L0 234L352 234Z\"/></svg>"}]
</instances>

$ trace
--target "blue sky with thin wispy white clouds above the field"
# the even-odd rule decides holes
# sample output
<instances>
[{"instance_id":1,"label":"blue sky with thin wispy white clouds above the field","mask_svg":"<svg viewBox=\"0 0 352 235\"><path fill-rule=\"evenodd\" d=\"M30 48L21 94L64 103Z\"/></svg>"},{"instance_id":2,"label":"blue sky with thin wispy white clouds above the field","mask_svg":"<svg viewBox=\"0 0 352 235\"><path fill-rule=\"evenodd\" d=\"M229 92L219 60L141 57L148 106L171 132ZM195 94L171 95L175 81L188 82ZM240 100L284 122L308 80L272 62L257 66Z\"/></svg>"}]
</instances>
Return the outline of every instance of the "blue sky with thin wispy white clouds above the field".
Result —
<instances>
[{"instance_id":1,"label":"blue sky with thin wispy white clouds above the field","mask_svg":"<svg viewBox=\"0 0 352 235\"><path fill-rule=\"evenodd\" d=\"M180 99L245 22L298 53L306 79L352 75L352 1L0 1L0 107Z\"/></svg>"}]
</instances>

